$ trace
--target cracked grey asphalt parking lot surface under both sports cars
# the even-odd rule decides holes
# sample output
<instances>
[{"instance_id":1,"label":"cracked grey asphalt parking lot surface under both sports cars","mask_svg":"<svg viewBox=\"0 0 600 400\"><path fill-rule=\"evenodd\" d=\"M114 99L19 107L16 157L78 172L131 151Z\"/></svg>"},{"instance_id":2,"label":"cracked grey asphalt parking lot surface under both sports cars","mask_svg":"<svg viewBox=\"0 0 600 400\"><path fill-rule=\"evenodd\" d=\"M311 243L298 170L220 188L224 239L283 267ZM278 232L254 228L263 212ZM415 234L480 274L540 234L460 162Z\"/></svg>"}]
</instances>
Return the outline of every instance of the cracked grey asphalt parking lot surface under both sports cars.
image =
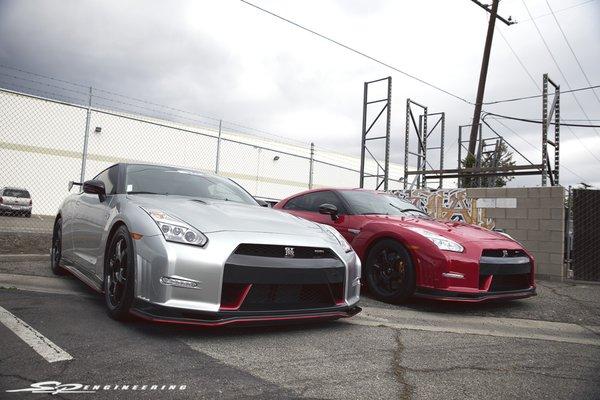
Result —
<instances>
[{"instance_id":1,"label":"cracked grey asphalt parking lot surface under both sports cars","mask_svg":"<svg viewBox=\"0 0 600 400\"><path fill-rule=\"evenodd\" d=\"M42 381L118 399L600 398L598 285L542 281L537 297L479 305L365 296L351 319L229 329L113 321L43 260L0 261L0 287L3 399L43 398L6 392Z\"/></svg>"}]
</instances>

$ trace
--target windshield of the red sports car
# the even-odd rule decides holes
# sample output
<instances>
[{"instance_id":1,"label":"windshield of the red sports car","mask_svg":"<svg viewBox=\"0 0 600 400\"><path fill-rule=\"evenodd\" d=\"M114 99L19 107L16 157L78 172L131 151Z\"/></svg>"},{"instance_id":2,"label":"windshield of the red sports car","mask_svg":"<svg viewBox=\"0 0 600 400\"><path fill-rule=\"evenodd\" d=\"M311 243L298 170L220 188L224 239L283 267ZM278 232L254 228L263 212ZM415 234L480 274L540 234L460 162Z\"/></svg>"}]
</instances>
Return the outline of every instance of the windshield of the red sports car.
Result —
<instances>
[{"instance_id":1,"label":"windshield of the red sports car","mask_svg":"<svg viewBox=\"0 0 600 400\"><path fill-rule=\"evenodd\" d=\"M356 214L361 215L418 215L425 212L406 200L385 193L367 192L362 190L343 190L342 196L350 203Z\"/></svg>"}]
</instances>

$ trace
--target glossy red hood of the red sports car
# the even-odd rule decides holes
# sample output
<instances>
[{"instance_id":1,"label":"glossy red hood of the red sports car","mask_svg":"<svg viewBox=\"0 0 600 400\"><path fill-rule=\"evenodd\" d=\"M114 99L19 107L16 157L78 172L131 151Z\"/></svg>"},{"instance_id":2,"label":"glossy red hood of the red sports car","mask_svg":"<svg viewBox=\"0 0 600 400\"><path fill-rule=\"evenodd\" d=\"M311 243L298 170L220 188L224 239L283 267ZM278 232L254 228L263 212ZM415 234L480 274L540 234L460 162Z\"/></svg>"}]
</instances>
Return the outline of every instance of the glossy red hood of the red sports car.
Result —
<instances>
[{"instance_id":1,"label":"glossy red hood of the red sports car","mask_svg":"<svg viewBox=\"0 0 600 400\"><path fill-rule=\"evenodd\" d=\"M464 222L436 220L433 218L403 217L395 215L373 215L370 219L386 221L404 228L421 228L444 236L458 243L467 243L482 240L510 240L505 235L477 225Z\"/></svg>"}]
</instances>

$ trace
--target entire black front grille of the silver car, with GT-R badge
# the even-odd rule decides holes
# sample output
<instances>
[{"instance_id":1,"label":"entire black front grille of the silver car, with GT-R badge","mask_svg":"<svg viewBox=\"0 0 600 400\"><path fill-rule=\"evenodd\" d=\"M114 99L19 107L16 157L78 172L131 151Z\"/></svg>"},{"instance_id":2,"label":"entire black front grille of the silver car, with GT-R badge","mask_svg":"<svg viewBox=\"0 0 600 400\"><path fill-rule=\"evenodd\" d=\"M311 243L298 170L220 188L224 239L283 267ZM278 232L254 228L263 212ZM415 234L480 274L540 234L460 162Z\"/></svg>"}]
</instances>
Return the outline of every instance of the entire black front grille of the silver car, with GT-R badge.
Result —
<instances>
[{"instance_id":1,"label":"entire black front grille of the silver car, with GT-R badge","mask_svg":"<svg viewBox=\"0 0 600 400\"><path fill-rule=\"evenodd\" d=\"M298 246L286 252L286 248L239 245L225 263L221 309L301 310L344 302L346 267L333 251Z\"/></svg>"}]
</instances>

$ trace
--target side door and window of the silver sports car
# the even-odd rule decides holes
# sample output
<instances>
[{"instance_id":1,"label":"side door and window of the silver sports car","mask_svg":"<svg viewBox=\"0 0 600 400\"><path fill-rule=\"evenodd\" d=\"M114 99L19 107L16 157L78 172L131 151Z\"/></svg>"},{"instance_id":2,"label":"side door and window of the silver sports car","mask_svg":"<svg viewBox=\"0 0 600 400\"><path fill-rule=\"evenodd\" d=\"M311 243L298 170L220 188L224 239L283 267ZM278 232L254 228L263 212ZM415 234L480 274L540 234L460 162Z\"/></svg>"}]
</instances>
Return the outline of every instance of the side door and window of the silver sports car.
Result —
<instances>
[{"instance_id":1,"label":"side door and window of the silver sports car","mask_svg":"<svg viewBox=\"0 0 600 400\"><path fill-rule=\"evenodd\" d=\"M78 264L89 273L94 273L103 249L102 237L110 210L115 202L119 166L114 165L94 179L104 182L106 199L100 201L96 194L81 193L76 201L73 226L74 253Z\"/></svg>"}]
</instances>

